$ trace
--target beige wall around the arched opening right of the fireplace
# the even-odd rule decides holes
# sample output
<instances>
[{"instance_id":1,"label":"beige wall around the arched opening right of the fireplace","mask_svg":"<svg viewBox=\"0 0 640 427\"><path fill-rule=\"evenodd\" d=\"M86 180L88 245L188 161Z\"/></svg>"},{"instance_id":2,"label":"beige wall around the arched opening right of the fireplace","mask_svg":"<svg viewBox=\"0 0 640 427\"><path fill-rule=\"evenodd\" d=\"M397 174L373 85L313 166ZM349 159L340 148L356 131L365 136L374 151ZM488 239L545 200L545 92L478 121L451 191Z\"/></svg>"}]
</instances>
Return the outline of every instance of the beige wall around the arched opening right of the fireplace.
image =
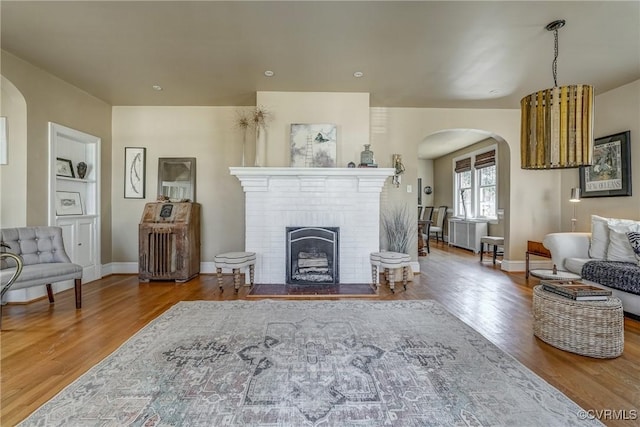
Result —
<instances>
[{"instance_id":1,"label":"beige wall around the arched opening right of the fireplace","mask_svg":"<svg viewBox=\"0 0 640 427\"><path fill-rule=\"evenodd\" d=\"M520 168L519 110L372 107L371 113L372 117L384 118L382 123L372 119L371 142L376 160L385 165L383 161L390 159L392 153L400 153L406 168L399 188L385 186L388 194L383 198L384 203L417 205L413 191L418 178L417 153L426 136L446 129L479 129L509 147L502 150L508 156L503 163L508 161L510 165L505 180L509 185L508 205L503 205L504 236L508 243L505 244L502 269L524 271L527 240L541 240L545 234L558 230L560 173ZM412 188L408 188L409 185Z\"/></svg>"}]
</instances>

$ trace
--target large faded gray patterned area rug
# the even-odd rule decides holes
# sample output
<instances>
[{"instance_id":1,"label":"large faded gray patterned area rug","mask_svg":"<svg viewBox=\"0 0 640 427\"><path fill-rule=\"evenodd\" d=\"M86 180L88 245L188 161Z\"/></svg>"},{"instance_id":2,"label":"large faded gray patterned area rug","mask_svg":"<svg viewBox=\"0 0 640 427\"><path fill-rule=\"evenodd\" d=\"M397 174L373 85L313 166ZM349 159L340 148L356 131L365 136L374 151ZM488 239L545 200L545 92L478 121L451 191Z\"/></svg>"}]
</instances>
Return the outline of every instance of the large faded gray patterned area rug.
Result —
<instances>
[{"instance_id":1,"label":"large faded gray patterned area rug","mask_svg":"<svg viewBox=\"0 0 640 427\"><path fill-rule=\"evenodd\" d=\"M434 301L181 302L31 426L584 426Z\"/></svg>"}]
</instances>

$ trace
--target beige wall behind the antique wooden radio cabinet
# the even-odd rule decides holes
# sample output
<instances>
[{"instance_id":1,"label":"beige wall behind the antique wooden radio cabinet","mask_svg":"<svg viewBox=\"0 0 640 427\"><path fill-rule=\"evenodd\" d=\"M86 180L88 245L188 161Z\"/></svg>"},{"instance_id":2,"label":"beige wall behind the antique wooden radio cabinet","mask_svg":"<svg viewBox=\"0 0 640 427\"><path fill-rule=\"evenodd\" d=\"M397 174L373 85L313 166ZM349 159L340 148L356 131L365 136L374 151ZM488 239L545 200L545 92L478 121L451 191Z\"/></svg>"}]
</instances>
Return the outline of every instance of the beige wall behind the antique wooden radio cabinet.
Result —
<instances>
[{"instance_id":1,"label":"beige wall behind the antique wooden radio cabinet","mask_svg":"<svg viewBox=\"0 0 640 427\"><path fill-rule=\"evenodd\" d=\"M235 120L247 107L113 107L113 261L138 261L138 224L156 200L158 158L196 158L196 202L202 205L203 262L244 247L244 192L229 174L240 166L242 132ZM249 136L249 141L251 136ZM253 162L255 143L248 143ZM124 198L124 147L146 147L146 198Z\"/></svg>"}]
</instances>

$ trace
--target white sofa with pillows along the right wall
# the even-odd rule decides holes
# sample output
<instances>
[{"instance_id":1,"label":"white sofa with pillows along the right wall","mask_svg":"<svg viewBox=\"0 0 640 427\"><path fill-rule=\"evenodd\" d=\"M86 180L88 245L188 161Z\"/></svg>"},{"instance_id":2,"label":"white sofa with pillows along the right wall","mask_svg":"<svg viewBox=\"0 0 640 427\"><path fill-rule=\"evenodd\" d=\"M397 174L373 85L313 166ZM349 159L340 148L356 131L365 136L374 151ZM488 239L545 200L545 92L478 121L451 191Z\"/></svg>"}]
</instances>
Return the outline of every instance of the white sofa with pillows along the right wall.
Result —
<instances>
[{"instance_id":1,"label":"white sofa with pillows along the right wall","mask_svg":"<svg viewBox=\"0 0 640 427\"><path fill-rule=\"evenodd\" d=\"M617 266L637 268L640 271L633 249L630 255L626 252L627 248L621 252L620 245L625 243L621 236L626 236L626 230L640 230L640 222L593 215L593 234L550 233L545 236L542 244L551 252L551 260L559 270L567 270L580 276L583 275L584 265L589 261L612 261L612 268L616 268L615 263L624 263ZM614 296L620 298L625 312L640 316L640 294L597 284L610 289ZM638 287L640 288L640 283Z\"/></svg>"}]
</instances>

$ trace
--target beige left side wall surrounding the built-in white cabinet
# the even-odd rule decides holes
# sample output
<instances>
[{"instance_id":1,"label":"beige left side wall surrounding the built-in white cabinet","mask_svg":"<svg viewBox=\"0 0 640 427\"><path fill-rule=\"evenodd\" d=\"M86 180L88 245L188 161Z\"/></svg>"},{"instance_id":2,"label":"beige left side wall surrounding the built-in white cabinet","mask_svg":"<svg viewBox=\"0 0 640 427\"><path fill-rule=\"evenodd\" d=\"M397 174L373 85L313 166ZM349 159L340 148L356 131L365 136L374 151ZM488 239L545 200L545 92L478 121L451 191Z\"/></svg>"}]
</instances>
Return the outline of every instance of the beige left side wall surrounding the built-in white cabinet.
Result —
<instances>
[{"instance_id":1,"label":"beige left side wall surrounding the built-in white cabinet","mask_svg":"<svg viewBox=\"0 0 640 427\"><path fill-rule=\"evenodd\" d=\"M102 263L110 262L111 106L5 51L2 51L2 76L24 96L27 107L25 225L48 222L48 122L98 136L102 139ZM23 185L24 178L17 174L10 181ZM4 191L11 189L3 179Z\"/></svg>"}]
</instances>

